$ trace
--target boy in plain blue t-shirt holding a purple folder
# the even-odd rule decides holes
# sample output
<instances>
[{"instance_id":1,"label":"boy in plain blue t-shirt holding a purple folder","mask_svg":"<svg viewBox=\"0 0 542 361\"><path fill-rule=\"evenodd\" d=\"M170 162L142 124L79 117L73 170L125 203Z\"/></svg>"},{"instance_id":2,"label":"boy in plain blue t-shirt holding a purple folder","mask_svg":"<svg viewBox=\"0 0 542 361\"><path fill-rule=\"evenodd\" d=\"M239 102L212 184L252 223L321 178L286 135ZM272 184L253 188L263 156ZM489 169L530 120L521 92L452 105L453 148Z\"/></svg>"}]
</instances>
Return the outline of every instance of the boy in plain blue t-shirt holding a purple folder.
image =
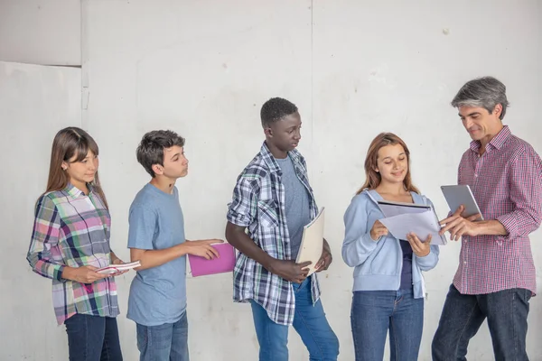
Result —
<instances>
[{"instance_id":1,"label":"boy in plain blue t-shirt holding a purple folder","mask_svg":"<svg viewBox=\"0 0 542 361\"><path fill-rule=\"evenodd\" d=\"M144 135L137 161L152 180L135 196L129 212L128 248L139 260L128 299L127 318L136 323L141 361L188 361L186 257L218 256L219 239L187 241L175 181L188 173L184 139L172 131Z\"/></svg>"}]
</instances>

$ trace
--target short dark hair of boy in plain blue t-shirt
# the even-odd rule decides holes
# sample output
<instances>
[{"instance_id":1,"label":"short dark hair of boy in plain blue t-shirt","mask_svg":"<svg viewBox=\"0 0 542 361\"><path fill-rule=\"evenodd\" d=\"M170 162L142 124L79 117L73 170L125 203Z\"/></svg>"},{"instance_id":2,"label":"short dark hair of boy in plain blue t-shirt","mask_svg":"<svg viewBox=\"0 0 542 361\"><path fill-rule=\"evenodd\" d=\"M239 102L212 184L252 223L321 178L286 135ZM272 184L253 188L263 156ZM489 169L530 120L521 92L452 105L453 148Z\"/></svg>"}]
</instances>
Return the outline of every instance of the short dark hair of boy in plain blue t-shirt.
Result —
<instances>
[{"instance_id":1,"label":"short dark hair of boy in plain blue t-shirt","mask_svg":"<svg viewBox=\"0 0 542 361\"><path fill-rule=\"evenodd\" d=\"M143 165L145 171L155 177L154 164L164 166L164 149L173 145L184 146L184 138L171 130L154 130L146 133L137 146L137 162Z\"/></svg>"}]
</instances>

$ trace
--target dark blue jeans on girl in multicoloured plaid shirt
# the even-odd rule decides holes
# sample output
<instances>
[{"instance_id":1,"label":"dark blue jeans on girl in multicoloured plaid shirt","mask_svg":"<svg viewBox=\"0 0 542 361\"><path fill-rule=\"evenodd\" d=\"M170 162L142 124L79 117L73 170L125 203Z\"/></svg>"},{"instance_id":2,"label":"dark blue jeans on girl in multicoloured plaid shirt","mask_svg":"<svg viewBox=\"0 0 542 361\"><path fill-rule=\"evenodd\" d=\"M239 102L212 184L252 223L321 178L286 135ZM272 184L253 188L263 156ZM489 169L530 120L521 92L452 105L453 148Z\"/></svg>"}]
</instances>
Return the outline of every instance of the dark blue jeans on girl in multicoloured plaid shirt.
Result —
<instances>
[{"instance_id":1,"label":"dark blue jeans on girl in multicoloured plaid shirt","mask_svg":"<svg viewBox=\"0 0 542 361\"><path fill-rule=\"evenodd\" d=\"M77 313L64 325L70 361L122 361L117 319Z\"/></svg>"}]
</instances>

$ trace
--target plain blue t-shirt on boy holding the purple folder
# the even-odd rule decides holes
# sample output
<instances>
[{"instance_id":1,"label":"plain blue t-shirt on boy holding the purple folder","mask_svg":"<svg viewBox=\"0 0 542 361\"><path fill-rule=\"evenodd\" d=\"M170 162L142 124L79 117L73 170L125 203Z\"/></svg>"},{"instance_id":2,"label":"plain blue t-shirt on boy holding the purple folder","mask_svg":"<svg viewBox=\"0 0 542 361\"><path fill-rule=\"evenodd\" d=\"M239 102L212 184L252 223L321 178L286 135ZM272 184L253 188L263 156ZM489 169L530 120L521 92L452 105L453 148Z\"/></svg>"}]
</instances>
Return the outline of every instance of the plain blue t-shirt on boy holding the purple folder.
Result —
<instances>
[{"instance_id":1,"label":"plain blue t-shirt on boy holding the purple folder","mask_svg":"<svg viewBox=\"0 0 542 361\"><path fill-rule=\"evenodd\" d=\"M137 193L129 214L128 248L164 249L184 242L179 192L152 184ZM130 287L126 317L145 326L174 323L186 310L186 256L138 271Z\"/></svg>"}]
</instances>

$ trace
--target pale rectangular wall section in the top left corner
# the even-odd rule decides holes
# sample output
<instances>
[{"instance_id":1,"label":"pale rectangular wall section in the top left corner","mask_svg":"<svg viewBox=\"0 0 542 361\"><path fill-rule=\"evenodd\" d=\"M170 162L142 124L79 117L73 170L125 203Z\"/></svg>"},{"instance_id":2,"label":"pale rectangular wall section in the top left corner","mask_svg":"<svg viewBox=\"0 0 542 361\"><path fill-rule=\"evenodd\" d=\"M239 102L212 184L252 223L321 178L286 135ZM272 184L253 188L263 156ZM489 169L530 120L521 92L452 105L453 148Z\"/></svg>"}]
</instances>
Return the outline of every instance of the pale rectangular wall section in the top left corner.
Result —
<instances>
[{"instance_id":1,"label":"pale rectangular wall section in the top left corner","mask_svg":"<svg viewBox=\"0 0 542 361\"><path fill-rule=\"evenodd\" d=\"M0 60L80 66L80 2L0 0Z\"/></svg>"}]
</instances>

